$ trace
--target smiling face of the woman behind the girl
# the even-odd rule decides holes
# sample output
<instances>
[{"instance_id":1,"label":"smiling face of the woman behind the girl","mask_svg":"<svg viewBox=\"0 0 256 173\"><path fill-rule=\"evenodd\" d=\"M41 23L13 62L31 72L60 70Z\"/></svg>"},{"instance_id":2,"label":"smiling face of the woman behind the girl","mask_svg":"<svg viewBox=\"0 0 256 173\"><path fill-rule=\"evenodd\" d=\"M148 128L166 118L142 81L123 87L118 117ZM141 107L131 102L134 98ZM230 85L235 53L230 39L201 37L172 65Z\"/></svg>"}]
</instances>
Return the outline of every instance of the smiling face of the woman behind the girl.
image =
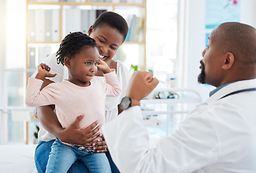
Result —
<instances>
[{"instance_id":1,"label":"smiling face of the woman behind the girl","mask_svg":"<svg viewBox=\"0 0 256 173\"><path fill-rule=\"evenodd\" d=\"M109 25L99 25L96 30L89 28L88 34L96 43L100 53L100 59L110 61L123 43L123 35Z\"/></svg>"}]
</instances>

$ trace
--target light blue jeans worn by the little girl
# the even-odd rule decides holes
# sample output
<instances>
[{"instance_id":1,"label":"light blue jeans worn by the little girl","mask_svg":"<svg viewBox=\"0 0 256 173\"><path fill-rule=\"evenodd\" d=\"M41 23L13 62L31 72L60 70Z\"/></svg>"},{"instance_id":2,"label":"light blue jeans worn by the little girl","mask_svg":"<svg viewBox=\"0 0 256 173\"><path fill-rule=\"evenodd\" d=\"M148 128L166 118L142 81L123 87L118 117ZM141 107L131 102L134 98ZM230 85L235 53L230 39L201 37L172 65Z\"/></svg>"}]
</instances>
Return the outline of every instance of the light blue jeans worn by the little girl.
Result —
<instances>
[{"instance_id":1,"label":"light blue jeans worn by the little girl","mask_svg":"<svg viewBox=\"0 0 256 173\"><path fill-rule=\"evenodd\" d=\"M46 172L68 172L79 159L89 172L111 173L110 164L104 153L96 153L86 146L69 146L58 139L51 146Z\"/></svg>"}]
</instances>

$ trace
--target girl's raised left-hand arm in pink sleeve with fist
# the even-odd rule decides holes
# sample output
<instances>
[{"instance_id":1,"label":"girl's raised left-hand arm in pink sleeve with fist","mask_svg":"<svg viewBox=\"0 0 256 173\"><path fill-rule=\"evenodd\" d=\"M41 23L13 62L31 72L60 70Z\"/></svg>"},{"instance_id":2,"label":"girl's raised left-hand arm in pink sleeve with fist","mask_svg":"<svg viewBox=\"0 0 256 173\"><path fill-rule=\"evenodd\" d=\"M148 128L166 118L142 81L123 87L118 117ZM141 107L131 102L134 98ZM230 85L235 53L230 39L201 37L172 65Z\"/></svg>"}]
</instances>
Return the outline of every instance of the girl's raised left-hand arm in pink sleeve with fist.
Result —
<instances>
[{"instance_id":1,"label":"girl's raised left-hand arm in pink sleeve with fist","mask_svg":"<svg viewBox=\"0 0 256 173\"><path fill-rule=\"evenodd\" d=\"M37 74L34 78L29 78L27 83L27 92L25 103L28 106L44 106L44 105L52 105L54 97L56 97L55 90L56 88L51 87L50 89L44 89L44 91L40 92L40 88L43 84L43 80L45 77L53 77L56 74L50 74L50 67L44 63L40 63L37 67Z\"/></svg>"}]
</instances>

